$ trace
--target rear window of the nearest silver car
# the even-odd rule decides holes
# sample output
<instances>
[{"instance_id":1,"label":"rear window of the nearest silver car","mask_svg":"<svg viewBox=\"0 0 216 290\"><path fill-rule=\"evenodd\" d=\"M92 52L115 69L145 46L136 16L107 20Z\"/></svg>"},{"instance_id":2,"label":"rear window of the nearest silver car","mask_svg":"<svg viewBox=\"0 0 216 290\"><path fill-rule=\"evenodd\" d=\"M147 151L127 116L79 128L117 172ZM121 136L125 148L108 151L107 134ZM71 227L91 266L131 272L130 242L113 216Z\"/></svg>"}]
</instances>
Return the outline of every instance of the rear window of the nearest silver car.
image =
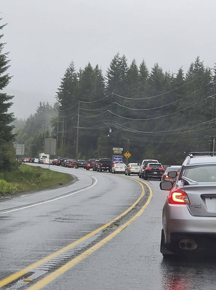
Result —
<instances>
[{"instance_id":1,"label":"rear window of the nearest silver car","mask_svg":"<svg viewBox=\"0 0 216 290\"><path fill-rule=\"evenodd\" d=\"M183 176L197 182L216 182L216 165L188 168L184 170Z\"/></svg>"}]
</instances>

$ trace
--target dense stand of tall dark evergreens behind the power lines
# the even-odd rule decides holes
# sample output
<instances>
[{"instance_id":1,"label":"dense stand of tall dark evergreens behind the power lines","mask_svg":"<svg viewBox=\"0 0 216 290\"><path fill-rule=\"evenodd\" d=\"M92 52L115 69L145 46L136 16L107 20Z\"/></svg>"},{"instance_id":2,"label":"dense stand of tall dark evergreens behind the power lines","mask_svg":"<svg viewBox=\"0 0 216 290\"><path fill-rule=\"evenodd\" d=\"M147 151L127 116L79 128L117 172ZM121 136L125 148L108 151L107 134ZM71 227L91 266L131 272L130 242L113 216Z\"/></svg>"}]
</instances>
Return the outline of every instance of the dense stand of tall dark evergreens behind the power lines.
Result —
<instances>
[{"instance_id":1,"label":"dense stand of tall dark evergreens behind the power lines","mask_svg":"<svg viewBox=\"0 0 216 290\"><path fill-rule=\"evenodd\" d=\"M111 157L115 146L129 150L131 161L172 164L184 151L209 151L215 80L215 68L199 56L177 73L158 63L149 71L144 60L128 64L119 53L105 75L90 63L76 71L72 61L57 91L58 155L75 157L78 102L80 158ZM57 117L52 126L56 132Z\"/></svg>"}]
</instances>

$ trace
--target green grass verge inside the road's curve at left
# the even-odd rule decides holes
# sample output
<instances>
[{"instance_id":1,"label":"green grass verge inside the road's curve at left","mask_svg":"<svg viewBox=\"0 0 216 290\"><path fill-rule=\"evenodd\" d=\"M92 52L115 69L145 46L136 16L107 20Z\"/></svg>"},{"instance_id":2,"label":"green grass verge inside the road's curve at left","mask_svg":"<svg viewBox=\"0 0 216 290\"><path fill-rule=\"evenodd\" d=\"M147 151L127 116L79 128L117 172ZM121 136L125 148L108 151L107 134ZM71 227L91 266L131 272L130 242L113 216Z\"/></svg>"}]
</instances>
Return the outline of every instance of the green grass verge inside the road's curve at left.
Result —
<instances>
[{"instance_id":1,"label":"green grass verge inside the road's curve at left","mask_svg":"<svg viewBox=\"0 0 216 290\"><path fill-rule=\"evenodd\" d=\"M22 164L16 171L0 173L0 197L64 185L72 180L67 173Z\"/></svg>"}]
</instances>

